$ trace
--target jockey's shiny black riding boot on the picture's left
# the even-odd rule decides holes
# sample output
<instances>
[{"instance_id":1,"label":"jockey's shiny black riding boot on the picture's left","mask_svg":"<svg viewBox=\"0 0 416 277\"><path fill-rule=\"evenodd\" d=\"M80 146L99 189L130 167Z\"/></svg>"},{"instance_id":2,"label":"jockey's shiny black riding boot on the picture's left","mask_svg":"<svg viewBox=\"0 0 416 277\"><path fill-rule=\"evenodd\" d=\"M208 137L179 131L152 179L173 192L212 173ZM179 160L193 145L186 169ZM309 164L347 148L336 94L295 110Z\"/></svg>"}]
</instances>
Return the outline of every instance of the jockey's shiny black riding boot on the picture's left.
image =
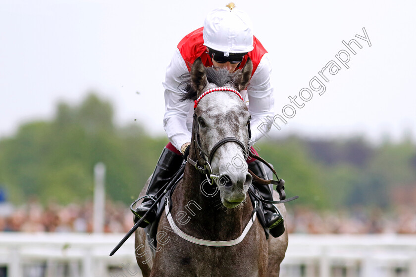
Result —
<instances>
[{"instance_id":1,"label":"jockey's shiny black riding boot on the picture's left","mask_svg":"<svg viewBox=\"0 0 416 277\"><path fill-rule=\"evenodd\" d=\"M173 151L163 148L162 154L160 154L159 160L155 171L153 171L152 179L149 182L148 189L146 194L155 196L156 193L166 184L170 178L179 170L179 167L182 165L183 158L181 155L174 153ZM142 204L137 207L136 213L139 217L135 217L134 222L137 222L141 219L150 207L155 203L149 197L143 199ZM151 212L146 216L146 219L140 224L140 227L146 227L148 224L153 222L156 219L156 208L152 209Z\"/></svg>"}]
</instances>

